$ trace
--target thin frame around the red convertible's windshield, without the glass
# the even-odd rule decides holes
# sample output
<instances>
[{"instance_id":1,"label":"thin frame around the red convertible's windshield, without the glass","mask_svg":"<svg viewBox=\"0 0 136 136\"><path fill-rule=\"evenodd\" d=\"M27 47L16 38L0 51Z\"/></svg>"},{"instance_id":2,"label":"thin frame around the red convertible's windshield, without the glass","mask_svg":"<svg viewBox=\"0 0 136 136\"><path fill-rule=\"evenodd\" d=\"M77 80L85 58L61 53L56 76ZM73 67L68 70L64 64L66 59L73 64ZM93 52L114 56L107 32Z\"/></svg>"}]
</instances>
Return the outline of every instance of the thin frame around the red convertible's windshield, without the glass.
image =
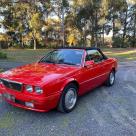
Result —
<instances>
[{"instance_id":1,"label":"thin frame around the red convertible's windshield, without the glass","mask_svg":"<svg viewBox=\"0 0 136 136\"><path fill-rule=\"evenodd\" d=\"M80 64L79 65L70 65L70 64L63 64L63 63L48 63L48 62L42 62L42 60L43 59L46 59L52 52L54 52L54 51L57 51L57 50L79 50L79 51L83 51L83 54L82 54L82 57L81 57L81 62L80 62ZM38 61L38 63L47 63L47 64L57 64L57 65L68 65L68 66L76 66L76 67L81 67L81 66L83 66L83 64L84 64L84 56L85 56L85 50L84 49L54 49L54 50L52 50L52 51L50 51L49 53L47 53L47 55L45 55L44 57L42 57L39 61Z\"/></svg>"}]
</instances>

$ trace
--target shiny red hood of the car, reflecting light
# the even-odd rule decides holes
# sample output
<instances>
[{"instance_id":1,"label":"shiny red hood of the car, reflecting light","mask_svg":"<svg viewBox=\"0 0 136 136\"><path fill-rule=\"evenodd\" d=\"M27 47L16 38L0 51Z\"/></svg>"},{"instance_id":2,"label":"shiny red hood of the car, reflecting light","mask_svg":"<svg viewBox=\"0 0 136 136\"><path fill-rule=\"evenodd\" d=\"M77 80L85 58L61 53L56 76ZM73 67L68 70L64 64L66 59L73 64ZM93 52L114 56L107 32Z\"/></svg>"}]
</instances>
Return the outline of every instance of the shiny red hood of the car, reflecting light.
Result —
<instances>
[{"instance_id":1,"label":"shiny red hood of the car, reflecting light","mask_svg":"<svg viewBox=\"0 0 136 136\"><path fill-rule=\"evenodd\" d=\"M29 85L42 85L63 78L77 69L78 67L68 65L34 63L6 71L0 78Z\"/></svg>"}]
</instances>

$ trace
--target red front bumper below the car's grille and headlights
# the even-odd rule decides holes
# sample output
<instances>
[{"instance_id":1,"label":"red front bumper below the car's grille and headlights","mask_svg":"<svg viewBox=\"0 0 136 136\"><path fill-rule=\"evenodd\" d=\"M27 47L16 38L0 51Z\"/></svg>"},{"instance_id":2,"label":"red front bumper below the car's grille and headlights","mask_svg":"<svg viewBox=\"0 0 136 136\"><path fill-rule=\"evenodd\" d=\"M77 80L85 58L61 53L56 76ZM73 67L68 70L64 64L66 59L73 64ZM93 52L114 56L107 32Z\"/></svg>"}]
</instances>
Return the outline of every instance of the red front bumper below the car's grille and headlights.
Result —
<instances>
[{"instance_id":1,"label":"red front bumper below the car's grille and headlights","mask_svg":"<svg viewBox=\"0 0 136 136\"><path fill-rule=\"evenodd\" d=\"M32 111L38 112L48 112L49 110L55 108L58 104L60 93L56 93L54 95L48 97L38 97L38 96L31 96L28 94L16 92L10 89L1 89L0 94L2 94L2 98L8 102L9 104L27 109ZM5 94L13 96L15 100L9 100L5 97ZM28 107L25 105L25 102L33 103L34 107Z\"/></svg>"}]
</instances>

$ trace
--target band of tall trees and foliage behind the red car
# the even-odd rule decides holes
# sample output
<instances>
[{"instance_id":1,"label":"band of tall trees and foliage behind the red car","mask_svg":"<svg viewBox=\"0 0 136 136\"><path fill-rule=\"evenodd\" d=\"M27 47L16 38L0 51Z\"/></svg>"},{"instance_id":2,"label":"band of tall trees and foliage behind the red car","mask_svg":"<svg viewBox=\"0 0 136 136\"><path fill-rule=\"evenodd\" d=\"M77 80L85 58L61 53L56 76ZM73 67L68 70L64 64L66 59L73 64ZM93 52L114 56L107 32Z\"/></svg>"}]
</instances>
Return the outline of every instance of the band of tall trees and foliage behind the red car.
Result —
<instances>
[{"instance_id":1,"label":"band of tall trees and foliage behind the red car","mask_svg":"<svg viewBox=\"0 0 136 136\"><path fill-rule=\"evenodd\" d=\"M1 0L0 48L136 47L135 0Z\"/></svg>"}]
</instances>

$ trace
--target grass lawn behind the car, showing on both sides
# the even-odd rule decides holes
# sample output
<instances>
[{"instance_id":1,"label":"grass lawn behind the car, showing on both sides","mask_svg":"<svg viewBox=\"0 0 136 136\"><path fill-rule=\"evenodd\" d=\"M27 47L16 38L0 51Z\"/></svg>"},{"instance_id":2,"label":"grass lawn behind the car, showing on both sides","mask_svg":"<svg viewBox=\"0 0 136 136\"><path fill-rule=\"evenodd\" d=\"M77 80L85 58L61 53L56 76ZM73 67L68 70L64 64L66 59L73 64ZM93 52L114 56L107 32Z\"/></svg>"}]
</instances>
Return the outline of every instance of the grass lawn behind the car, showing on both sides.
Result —
<instances>
[{"instance_id":1,"label":"grass lawn behind the car, showing on both sides","mask_svg":"<svg viewBox=\"0 0 136 136\"><path fill-rule=\"evenodd\" d=\"M136 48L135 49L102 49L103 52L109 57L115 57L120 62L124 61L136 61ZM6 61L16 61L16 62L35 62L39 60L42 56L46 55L50 50L38 49L38 50L28 50L28 49L10 49L2 50L7 53L8 59Z\"/></svg>"}]
</instances>

